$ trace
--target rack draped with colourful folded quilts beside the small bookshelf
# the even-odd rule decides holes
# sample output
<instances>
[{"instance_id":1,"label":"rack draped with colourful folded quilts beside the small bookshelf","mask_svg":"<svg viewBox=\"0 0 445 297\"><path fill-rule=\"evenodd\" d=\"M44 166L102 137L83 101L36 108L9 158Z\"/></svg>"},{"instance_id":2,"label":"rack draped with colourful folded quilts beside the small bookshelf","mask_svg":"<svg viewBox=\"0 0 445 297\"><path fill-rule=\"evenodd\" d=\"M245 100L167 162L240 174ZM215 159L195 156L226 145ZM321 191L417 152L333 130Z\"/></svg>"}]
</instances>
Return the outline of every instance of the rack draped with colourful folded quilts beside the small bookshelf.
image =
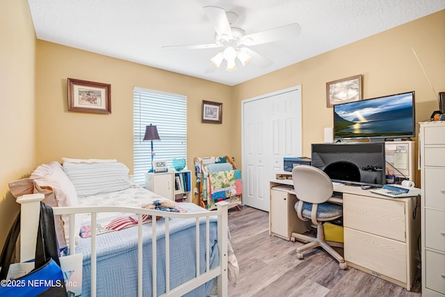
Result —
<instances>
[{"instance_id":1,"label":"rack draped with colourful folded quilts beside the small bookshelf","mask_svg":"<svg viewBox=\"0 0 445 297\"><path fill-rule=\"evenodd\" d=\"M225 201L241 210L243 184L241 170L229 156L195 157L195 175L200 184L200 205L209 210Z\"/></svg>"}]
</instances>

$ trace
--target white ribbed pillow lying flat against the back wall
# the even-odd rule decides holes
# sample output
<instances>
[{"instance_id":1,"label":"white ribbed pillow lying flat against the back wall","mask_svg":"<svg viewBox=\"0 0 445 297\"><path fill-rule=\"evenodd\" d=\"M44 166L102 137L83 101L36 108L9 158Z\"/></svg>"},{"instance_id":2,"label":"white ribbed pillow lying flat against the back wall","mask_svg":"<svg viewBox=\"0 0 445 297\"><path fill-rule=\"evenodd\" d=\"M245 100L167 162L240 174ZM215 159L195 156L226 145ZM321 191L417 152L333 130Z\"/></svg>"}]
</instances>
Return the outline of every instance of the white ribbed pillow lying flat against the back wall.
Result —
<instances>
[{"instance_id":1,"label":"white ribbed pillow lying flat against the back wall","mask_svg":"<svg viewBox=\"0 0 445 297\"><path fill-rule=\"evenodd\" d=\"M79 197L122 191L131 186L130 170L119 162L63 162L63 170Z\"/></svg>"}]
</instances>

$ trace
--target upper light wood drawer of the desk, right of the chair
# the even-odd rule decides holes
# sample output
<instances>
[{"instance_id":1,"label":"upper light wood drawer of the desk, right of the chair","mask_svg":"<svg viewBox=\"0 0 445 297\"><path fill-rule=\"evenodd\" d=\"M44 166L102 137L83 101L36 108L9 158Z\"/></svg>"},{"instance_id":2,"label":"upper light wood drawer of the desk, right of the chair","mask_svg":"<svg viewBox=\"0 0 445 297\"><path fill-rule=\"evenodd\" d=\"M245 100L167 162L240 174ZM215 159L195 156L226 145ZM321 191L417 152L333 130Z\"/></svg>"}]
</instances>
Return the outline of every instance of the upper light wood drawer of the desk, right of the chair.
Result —
<instances>
[{"instance_id":1,"label":"upper light wood drawer of the desk, right of the chair","mask_svg":"<svg viewBox=\"0 0 445 297\"><path fill-rule=\"evenodd\" d=\"M405 202L344 194L343 226L405 242Z\"/></svg>"}]
</instances>

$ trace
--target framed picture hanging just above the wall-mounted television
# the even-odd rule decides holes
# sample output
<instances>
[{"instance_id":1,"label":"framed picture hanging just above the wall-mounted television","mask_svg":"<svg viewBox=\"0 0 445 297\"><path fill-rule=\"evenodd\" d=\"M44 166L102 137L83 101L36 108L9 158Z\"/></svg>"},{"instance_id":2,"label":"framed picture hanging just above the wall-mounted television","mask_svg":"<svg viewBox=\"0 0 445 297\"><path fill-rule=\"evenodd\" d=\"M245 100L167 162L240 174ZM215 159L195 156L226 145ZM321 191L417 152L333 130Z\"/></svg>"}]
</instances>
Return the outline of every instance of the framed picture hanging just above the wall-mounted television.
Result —
<instances>
[{"instance_id":1,"label":"framed picture hanging just above the wall-mounted television","mask_svg":"<svg viewBox=\"0 0 445 297\"><path fill-rule=\"evenodd\" d=\"M362 74L326 83L326 106L362 100Z\"/></svg>"}]
</instances>

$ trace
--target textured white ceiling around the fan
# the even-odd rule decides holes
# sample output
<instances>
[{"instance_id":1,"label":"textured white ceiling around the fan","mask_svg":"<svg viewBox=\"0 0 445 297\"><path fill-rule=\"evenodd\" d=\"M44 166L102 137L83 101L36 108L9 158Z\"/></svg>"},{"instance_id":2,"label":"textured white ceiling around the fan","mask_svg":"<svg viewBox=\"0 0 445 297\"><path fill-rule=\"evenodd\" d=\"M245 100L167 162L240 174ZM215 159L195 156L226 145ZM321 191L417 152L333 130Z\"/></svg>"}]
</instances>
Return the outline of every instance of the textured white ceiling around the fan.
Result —
<instances>
[{"instance_id":1,"label":"textured white ceiling around the fan","mask_svg":"<svg viewBox=\"0 0 445 297\"><path fill-rule=\"evenodd\" d=\"M234 86L370 35L445 9L445 0L29 0L38 39ZM220 49L165 50L214 42L202 7L238 15L246 34L297 22L298 38L252 46L254 60L236 72L213 69ZM209 70L213 70L209 72Z\"/></svg>"}]
</instances>

